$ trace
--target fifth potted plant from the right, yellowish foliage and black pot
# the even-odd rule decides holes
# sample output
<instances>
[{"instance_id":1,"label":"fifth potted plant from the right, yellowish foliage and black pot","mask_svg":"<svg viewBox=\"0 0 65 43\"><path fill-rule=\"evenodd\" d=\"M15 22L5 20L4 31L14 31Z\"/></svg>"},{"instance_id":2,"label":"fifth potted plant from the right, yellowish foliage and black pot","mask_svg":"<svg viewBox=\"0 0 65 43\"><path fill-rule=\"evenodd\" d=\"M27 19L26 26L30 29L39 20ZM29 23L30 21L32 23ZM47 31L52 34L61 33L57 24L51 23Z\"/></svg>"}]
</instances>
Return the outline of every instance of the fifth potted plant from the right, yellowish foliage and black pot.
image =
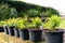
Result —
<instances>
[{"instance_id":1,"label":"fifth potted plant from the right, yellowish foliage and black pot","mask_svg":"<svg viewBox=\"0 0 65 43\"><path fill-rule=\"evenodd\" d=\"M14 34L14 28L15 28L15 26L14 26L14 23L15 23L15 19L13 18L13 19L8 19L8 29L9 29L9 34L10 35L15 35Z\"/></svg>"}]
</instances>

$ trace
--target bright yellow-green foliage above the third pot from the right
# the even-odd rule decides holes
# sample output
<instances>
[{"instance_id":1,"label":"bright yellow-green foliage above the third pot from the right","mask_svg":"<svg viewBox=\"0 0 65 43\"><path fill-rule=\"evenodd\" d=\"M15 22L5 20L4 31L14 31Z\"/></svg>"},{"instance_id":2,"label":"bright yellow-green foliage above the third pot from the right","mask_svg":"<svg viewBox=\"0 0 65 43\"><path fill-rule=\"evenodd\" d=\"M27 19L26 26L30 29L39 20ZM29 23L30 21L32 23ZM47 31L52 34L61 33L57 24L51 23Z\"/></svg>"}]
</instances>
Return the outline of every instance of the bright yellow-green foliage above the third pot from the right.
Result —
<instances>
[{"instance_id":1,"label":"bright yellow-green foliage above the third pot from the right","mask_svg":"<svg viewBox=\"0 0 65 43\"><path fill-rule=\"evenodd\" d=\"M15 27L17 27L20 29L24 29L24 28L26 28L26 25L27 25L27 17L21 18L21 19L16 20L16 23L14 23L14 24L15 24Z\"/></svg>"}]
</instances>

